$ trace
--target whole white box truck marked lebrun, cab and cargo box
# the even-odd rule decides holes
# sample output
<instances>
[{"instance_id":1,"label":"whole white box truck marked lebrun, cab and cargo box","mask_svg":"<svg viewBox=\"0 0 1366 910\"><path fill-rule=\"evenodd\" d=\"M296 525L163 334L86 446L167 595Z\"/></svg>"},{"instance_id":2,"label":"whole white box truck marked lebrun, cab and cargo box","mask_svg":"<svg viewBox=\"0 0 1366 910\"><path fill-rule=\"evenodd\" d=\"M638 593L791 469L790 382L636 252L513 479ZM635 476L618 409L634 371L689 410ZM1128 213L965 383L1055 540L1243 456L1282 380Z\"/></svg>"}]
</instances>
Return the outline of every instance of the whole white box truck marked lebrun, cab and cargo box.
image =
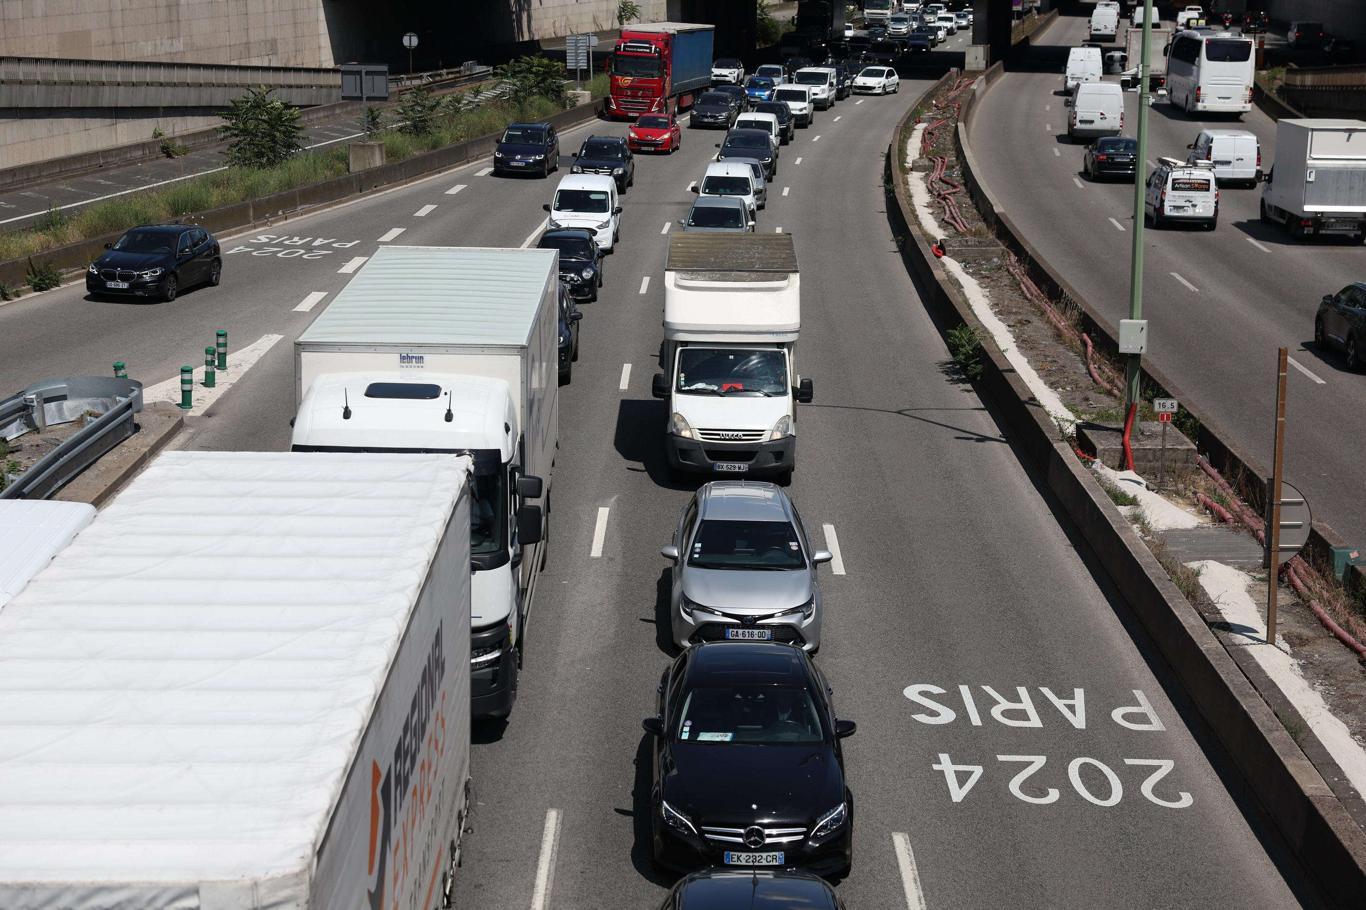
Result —
<instances>
[{"instance_id":1,"label":"whole white box truck marked lebrun, cab and cargo box","mask_svg":"<svg viewBox=\"0 0 1366 910\"><path fill-rule=\"evenodd\" d=\"M545 562L559 254L387 246L294 343L296 452L474 458L474 716L505 717Z\"/></svg>"}]
</instances>

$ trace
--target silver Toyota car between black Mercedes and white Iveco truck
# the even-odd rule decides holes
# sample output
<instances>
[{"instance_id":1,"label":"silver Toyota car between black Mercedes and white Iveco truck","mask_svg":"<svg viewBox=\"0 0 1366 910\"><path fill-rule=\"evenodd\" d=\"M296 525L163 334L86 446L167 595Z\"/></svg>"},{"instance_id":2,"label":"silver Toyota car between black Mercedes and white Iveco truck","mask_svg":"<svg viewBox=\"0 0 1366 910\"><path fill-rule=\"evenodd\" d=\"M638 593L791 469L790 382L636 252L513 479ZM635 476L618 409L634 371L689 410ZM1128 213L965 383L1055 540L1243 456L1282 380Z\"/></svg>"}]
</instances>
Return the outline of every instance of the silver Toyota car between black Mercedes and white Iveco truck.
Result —
<instances>
[{"instance_id":1,"label":"silver Toyota car between black Mercedes and white Iveco truck","mask_svg":"<svg viewBox=\"0 0 1366 910\"><path fill-rule=\"evenodd\" d=\"M792 500L775 484L714 481L683 510L673 544L673 642L779 641L821 646L821 589Z\"/></svg>"}]
</instances>

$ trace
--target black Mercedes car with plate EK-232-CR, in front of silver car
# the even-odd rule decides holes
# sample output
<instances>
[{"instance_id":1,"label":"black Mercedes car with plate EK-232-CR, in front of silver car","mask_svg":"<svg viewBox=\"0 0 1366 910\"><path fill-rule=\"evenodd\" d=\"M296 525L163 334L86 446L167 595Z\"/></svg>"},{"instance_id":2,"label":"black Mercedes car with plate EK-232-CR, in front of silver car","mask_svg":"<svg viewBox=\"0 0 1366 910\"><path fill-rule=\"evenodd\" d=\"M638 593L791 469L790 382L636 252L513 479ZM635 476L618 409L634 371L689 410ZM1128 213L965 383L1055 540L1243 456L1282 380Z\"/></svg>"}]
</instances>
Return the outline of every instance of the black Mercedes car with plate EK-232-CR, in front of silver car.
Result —
<instances>
[{"instance_id":1,"label":"black Mercedes car with plate EK-232-CR, in front of silver car","mask_svg":"<svg viewBox=\"0 0 1366 910\"><path fill-rule=\"evenodd\" d=\"M710 642L660 683L652 835L660 866L805 869L833 874L854 855L831 690L799 648Z\"/></svg>"}]
</instances>

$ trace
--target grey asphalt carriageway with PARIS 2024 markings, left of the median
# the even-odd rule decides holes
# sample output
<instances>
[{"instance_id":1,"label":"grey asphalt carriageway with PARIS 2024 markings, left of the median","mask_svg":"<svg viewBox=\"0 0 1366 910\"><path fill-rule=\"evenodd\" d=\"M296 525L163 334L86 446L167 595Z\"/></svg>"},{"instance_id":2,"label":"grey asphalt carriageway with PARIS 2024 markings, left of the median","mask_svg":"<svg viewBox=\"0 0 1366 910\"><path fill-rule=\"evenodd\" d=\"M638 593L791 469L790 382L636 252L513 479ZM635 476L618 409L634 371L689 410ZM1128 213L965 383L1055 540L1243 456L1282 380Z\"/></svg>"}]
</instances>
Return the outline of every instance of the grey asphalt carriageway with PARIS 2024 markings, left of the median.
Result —
<instances>
[{"instance_id":1,"label":"grey asphalt carriageway with PARIS 2024 markings, left of the median","mask_svg":"<svg viewBox=\"0 0 1366 910\"><path fill-rule=\"evenodd\" d=\"M855 910L1299 906L1085 542L947 363L881 183L892 128L926 85L818 113L783 149L758 220L795 236L802 269L796 357L816 402L800 406L790 493L839 553L821 571L818 661L859 724L844 750L855 861L839 892ZM566 148L590 131L626 126L572 130ZM516 708L475 730L456 906L645 910L672 881L649 866L641 719L672 653L658 547L695 485L669 481L650 374L668 234L720 138L688 130L679 153L638 158L607 286L583 305L549 568ZM213 329L235 347L280 335L180 444L285 448L290 343L352 260L381 243L534 240L555 179L486 167L225 239L223 286L169 305L68 287L0 307L0 387L115 359L154 383L198 362Z\"/></svg>"}]
</instances>

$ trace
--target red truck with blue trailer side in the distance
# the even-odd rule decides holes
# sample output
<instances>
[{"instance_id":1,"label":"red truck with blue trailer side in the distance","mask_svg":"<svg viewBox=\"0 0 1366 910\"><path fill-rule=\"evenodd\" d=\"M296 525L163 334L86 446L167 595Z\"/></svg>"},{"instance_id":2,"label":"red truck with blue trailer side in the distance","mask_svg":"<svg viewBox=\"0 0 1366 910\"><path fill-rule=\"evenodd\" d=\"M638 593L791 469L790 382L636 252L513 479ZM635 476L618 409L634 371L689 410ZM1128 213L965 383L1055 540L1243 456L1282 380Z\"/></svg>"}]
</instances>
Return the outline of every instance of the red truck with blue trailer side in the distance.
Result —
<instances>
[{"instance_id":1,"label":"red truck with blue trailer side in the distance","mask_svg":"<svg viewBox=\"0 0 1366 910\"><path fill-rule=\"evenodd\" d=\"M607 115L678 113L693 94L712 85L712 38L716 26L647 22L622 29L608 56L612 89Z\"/></svg>"}]
</instances>

